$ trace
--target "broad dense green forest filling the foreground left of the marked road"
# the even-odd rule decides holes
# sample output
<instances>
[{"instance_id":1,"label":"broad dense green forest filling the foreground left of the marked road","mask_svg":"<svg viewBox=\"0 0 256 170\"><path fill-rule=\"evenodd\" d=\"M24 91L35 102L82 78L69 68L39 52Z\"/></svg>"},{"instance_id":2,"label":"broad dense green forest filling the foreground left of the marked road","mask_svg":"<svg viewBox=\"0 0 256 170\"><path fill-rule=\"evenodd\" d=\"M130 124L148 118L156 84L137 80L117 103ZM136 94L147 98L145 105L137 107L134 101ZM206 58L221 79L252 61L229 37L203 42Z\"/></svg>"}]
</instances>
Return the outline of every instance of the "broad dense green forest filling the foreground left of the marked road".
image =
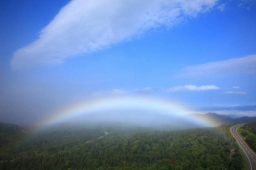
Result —
<instances>
[{"instance_id":1,"label":"broad dense green forest filling the foreground left of the marked road","mask_svg":"<svg viewBox=\"0 0 256 170\"><path fill-rule=\"evenodd\" d=\"M0 124L0 128L1 170L247 168L247 160L227 125L176 131L59 125L32 134L13 124ZM97 138L104 131L109 134ZM233 147L235 152L231 153Z\"/></svg>"}]
</instances>

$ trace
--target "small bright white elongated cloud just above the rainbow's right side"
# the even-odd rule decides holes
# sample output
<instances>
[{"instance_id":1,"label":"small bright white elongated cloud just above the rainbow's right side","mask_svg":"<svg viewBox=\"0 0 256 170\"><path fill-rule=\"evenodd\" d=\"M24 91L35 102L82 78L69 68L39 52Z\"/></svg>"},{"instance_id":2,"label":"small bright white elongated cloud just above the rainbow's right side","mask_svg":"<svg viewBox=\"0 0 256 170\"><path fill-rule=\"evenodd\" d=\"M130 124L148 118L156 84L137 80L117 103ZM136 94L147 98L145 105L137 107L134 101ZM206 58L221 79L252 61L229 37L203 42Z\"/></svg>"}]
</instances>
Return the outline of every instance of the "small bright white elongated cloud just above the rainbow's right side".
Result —
<instances>
[{"instance_id":1,"label":"small bright white elongated cloud just above the rainbow's right side","mask_svg":"<svg viewBox=\"0 0 256 170\"><path fill-rule=\"evenodd\" d=\"M173 88L167 89L167 92L174 92L174 91L203 91L203 90L218 90L219 87L215 85L202 85L202 86L196 86L196 85L184 85L184 86L175 86Z\"/></svg>"}]
</instances>

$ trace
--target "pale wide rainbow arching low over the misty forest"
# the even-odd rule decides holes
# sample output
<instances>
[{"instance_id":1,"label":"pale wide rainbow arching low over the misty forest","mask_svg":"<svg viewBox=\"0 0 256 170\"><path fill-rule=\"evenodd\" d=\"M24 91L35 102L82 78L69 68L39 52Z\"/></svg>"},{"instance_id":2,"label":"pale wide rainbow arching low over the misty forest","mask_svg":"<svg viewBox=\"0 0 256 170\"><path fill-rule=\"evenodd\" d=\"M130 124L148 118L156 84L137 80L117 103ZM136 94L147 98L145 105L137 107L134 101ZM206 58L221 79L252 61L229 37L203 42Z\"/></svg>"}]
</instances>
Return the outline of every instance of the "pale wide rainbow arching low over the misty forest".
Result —
<instances>
[{"instance_id":1,"label":"pale wide rainbow arching low over the misty forest","mask_svg":"<svg viewBox=\"0 0 256 170\"><path fill-rule=\"evenodd\" d=\"M117 110L142 110L144 112L151 112L170 115L175 118L186 119L188 122L193 122L200 126L215 126L215 123L211 120L200 120L198 118L189 116L194 113L184 106L175 104L173 102L161 99L145 98L145 97L111 97L102 99L86 100L78 104L60 109L45 118L43 121L38 122L43 127L48 124L54 124L58 122L65 122L72 117L92 114L92 113L104 113L106 111ZM41 128L42 128L41 126Z\"/></svg>"}]
</instances>

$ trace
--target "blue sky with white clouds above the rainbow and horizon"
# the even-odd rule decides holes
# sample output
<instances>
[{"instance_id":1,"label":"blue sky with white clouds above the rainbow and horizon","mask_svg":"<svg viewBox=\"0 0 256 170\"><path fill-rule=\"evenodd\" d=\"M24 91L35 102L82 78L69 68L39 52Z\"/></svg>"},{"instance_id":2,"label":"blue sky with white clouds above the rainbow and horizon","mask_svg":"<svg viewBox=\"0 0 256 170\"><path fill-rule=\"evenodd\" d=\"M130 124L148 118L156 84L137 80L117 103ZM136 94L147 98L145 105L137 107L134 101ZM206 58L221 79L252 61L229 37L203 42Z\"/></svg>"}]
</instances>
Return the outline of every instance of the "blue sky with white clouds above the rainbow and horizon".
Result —
<instances>
[{"instance_id":1,"label":"blue sky with white clouds above the rainbow and horizon","mask_svg":"<svg viewBox=\"0 0 256 170\"><path fill-rule=\"evenodd\" d=\"M0 11L5 122L116 95L256 116L253 1L10 0Z\"/></svg>"}]
</instances>

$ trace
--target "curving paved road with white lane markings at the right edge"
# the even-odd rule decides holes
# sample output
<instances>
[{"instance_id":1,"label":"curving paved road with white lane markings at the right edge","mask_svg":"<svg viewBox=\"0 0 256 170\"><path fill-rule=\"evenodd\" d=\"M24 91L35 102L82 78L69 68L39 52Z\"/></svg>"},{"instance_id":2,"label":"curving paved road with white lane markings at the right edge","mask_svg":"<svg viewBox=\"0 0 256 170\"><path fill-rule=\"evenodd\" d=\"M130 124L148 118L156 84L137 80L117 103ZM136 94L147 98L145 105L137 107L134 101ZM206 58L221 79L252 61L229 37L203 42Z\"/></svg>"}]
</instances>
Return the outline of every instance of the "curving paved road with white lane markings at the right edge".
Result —
<instances>
[{"instance_id":1,"label":"curving paved road with white lane markings at the right edge","mask_svg":"<svg viewBox=\"0 0 256 170\"><path fill-rule=\"evenodd\" d=\"M248 147L248 145L243 141L243 139L240 137L240 135L237 132L237 128L240 126L243 126L244 124L238 124L230 128L231 133L235 137L236 141L240 145L240 147L243 149L243 152L247 156L247 160L249 162L249 169L250 170L256 170L256 155L255 153Z\"/></svg>"}]
</instances>

